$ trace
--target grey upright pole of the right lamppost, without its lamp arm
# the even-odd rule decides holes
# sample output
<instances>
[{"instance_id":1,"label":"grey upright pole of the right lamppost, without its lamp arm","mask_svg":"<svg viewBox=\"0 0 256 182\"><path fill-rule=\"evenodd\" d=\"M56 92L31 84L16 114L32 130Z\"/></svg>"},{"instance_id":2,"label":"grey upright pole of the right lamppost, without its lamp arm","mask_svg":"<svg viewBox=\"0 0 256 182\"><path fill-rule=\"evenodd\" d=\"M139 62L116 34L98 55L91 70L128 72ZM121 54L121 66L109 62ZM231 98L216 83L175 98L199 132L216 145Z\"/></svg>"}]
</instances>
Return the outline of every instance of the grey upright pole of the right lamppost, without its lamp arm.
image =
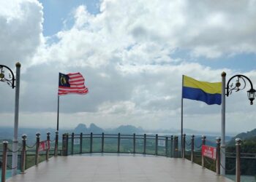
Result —
<instances>
[{"instance_id":1,"label":"grey upright pole of the right lamppost, without its lamp arm","mask_svg":"<svg viewBox=\"0 0 256 182\"><path fill-rule=\"evenodd\" d=\"M226 149L225 149L225 114L226 114L226 98L225 98L225 86L226 86L226 73L222 72L222 135L221 135L221 145L220 145L220 174L225 175L225 165L226 165Z\"/></svg>"}]
</instances>

